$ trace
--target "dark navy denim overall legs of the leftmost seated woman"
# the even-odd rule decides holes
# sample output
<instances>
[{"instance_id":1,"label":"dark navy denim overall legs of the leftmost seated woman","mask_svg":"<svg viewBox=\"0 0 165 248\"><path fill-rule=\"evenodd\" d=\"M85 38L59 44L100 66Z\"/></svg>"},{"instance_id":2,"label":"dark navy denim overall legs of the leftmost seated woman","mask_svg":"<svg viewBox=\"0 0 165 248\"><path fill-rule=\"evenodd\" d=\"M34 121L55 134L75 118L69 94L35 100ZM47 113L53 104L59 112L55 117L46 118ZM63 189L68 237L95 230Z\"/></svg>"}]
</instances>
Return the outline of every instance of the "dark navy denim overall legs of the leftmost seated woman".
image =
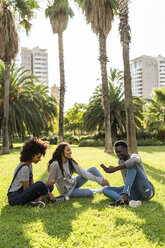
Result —
<instances>
[{"instance_id":1,"label":"dark navy denim overall legs of the leftmost seated woman","mask_svg":"<svg viewBox=\"0 0 165 248\"><path fill-rule=\"evenodd\" d=\"M8 201L12 206L24 205L30 201L36 200L41 195L46 195L47 193L48 189L46 184L42 181L38 181L25 190L21 188L16 192L9 192Z\"/></svg>"}]
</instances>

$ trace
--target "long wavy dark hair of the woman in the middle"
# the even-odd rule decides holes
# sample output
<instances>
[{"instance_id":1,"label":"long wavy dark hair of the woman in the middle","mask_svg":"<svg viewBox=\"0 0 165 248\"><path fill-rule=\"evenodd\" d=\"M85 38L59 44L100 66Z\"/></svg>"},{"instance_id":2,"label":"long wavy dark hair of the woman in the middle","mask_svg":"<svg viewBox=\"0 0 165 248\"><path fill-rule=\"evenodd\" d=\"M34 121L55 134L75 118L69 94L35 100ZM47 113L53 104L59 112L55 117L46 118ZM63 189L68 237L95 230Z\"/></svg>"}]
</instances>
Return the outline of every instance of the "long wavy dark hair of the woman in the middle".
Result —
<instances>
[{"instance_id":1,"label":"long wavy dark hair of the woman in the middle","mask_svg":"<svg viewBox=\"0 0 165 248\"><path fill-rule=\"evenodd\" d=\"M59 167L61 169L61 172L62 172L62 174L64 176L64 169L63 169L63 166L62 166L62 154L64 153L64 149L65 149L65 147L67 145L69 145L69 144L65 143L65 142L62 142L56 147L56 150L54 151L54 153L52 155L52 158L48 162L48 172L49 172L50 164L53 163L54 161L57 161L58 164L59 164ZM73 162L75 162L76 164L77 164L77 162L74 159L68 159L68 161L69 161L70 172L73 173L73 171L74 171Z\"/></svg>"}]
</instances>

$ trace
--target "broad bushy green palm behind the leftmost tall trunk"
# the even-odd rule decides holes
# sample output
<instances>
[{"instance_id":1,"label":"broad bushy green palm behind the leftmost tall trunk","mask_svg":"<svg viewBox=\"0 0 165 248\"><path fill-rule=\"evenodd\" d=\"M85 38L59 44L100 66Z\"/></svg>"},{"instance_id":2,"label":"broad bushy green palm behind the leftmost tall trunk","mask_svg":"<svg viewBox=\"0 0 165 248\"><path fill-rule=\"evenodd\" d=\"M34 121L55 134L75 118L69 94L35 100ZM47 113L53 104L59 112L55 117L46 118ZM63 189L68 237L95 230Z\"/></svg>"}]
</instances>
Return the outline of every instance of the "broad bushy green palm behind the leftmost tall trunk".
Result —
<instances>
[{"instance_id":1,"label":"broad bushy green palm behind the leftmost tall trunk","mask_svg":"<svg viewBox=\"0 0 165 248\"><path fill-rule=\"evenodd\" d=\"M4 64L0 63L0 128L3 122ZM29 74L28 74L29 72ZM51 122L57 116L55 98L48 94L44 85L35 85L37 78L23 67L15 70L11 66L9 92L9 140L17 134L24 137L27 131L35 136L51 129ZM10 142L11 143L11 142Z\"/></svg>"}]
</instances>

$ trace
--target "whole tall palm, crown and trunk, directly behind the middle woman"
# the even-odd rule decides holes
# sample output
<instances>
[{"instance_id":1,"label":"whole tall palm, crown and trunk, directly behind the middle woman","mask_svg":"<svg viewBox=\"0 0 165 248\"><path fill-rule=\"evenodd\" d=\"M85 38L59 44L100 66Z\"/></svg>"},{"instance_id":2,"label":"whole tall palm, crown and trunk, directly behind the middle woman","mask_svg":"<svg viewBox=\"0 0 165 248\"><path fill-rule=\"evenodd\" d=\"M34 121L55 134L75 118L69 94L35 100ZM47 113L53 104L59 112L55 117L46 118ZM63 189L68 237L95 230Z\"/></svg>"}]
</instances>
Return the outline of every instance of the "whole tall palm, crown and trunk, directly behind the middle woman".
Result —
<instances>
[{"instance_id":1,"label":"whole tall palm, crown and trunk, directly behind the middle woman","mask_svg":"<svg viewBox=\"0 0 165 248\"><path fill-rule=\"evenodd\" d=\"M52 6L45 10L46 17L49 17L54 34L58 34L59 45L59 67L60 67L60 102L59 102L59 142L64 139L64 96L65 96L65 73L64 73L64 52L63 32L67 28L69 18L74 13L69 6L68 0L54 0Z\"/></svg>"}]
</instances>

